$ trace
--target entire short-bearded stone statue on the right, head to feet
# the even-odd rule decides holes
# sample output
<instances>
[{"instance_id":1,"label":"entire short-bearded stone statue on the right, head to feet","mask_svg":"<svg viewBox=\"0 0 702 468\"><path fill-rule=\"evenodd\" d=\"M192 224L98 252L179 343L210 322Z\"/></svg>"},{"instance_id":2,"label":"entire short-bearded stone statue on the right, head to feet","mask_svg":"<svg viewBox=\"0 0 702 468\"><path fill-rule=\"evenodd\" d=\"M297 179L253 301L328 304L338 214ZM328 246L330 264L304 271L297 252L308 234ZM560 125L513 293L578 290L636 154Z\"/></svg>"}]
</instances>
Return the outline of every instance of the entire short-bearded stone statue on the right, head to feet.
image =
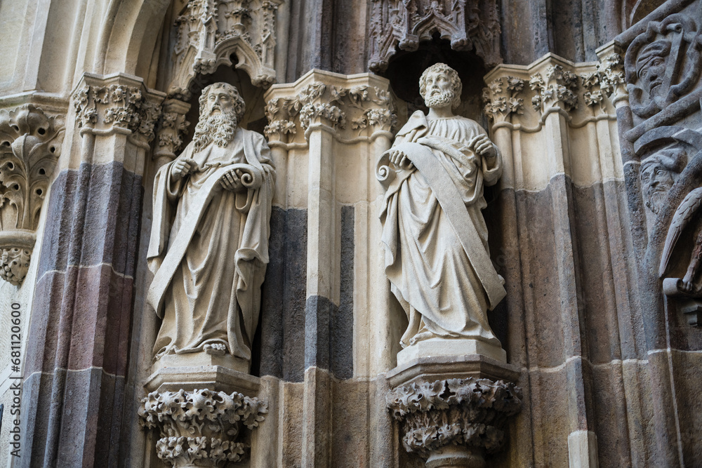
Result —
<instances>
[{"instance_id":1,"label":"entire short-bearded stone statue on the right, head to feet","mask_svg":"<svg viewBox=\"0 0 702 468\"><path fill-rule=\"evenodd\" d=\"M461 86L447 65L426 69L420 94L429 114L412 114L378 162L385 274L409 319L402 347L461 338L503 353L486 311L505 297L504 280L481 212L483 185L500 178L502 159L481 126L453 115Z\"/></svg>"}]
</instances>

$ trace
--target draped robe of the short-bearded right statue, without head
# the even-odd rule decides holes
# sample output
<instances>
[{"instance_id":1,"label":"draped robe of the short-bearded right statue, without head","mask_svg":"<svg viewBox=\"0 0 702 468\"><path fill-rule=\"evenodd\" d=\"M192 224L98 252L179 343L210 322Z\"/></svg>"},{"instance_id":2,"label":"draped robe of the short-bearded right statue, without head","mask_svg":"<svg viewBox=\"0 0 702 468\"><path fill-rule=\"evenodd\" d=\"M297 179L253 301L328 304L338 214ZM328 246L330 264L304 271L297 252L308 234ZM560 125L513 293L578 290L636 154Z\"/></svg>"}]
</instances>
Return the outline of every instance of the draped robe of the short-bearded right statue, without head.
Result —
<instances>
[{"instance_id":1,"label":"draped robe of the short-bearded right statue, without head","mask_svg":"<svg viewBox=\"0 0 702 468\"><path fill-rule=\"evenodd\" d=\"M411 345L418 333L426 332L500 345L487 322L486 310L493 309L506 293L503 279L489 261L488 233L481 210L486 206L483 185L492 185L500 178L502 160L499 151L496 158L488 159L467 147L473 138L484 133L470 119L456 116L428 120L421 111L415 112L397 133L395 147L405 142L431 143L433 147L423 145L431 151L430 163L440 164L435 169L445 171L449 177L442 174L444 179L453 182L457 189L431 187L417 168L398 171L386 189L380 214L385 273L409 319L402 336L403 347ZM411 152L418 145L404 148ZM449 149L441 151L437 147ZM407 154L409 159L418 157L414 153ZM462 199L468 215L463 221L472 223L479 236L479 241L472 241L473 252L467 253L471 249L471 242L465 241L468 233L462 234L463 239L456 233L460 223L449 220L435 189ZM458 205L459 210L463 206ZM484 252L477 252L479 248L484 248ZM477 254L484 261L475 265L469 258L478 258Z\"/></svg>"}]
</instances>

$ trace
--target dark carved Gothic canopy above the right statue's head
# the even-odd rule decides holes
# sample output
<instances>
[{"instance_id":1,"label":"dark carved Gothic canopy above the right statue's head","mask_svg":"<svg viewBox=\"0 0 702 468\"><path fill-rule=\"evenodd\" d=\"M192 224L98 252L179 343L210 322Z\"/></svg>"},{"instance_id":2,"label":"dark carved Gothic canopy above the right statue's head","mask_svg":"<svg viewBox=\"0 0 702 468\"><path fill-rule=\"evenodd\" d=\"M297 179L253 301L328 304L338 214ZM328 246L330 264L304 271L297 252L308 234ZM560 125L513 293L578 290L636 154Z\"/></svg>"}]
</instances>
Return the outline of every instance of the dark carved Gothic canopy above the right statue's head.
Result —
<instances>
[{"instance_id":1,"label":"dark carved Gothic canopy above the right statue's head","mask_svg":"<svg viewBox=\"0 0 702 468\"><path fill-rule=\"evenodd\" d=\"M382 72L401 51L416 51L435 32L454 51L475 49L487 68L502 63L500 22L495 0L373 0L369 28L369 62Z\"/></svg>"}]
</instances>

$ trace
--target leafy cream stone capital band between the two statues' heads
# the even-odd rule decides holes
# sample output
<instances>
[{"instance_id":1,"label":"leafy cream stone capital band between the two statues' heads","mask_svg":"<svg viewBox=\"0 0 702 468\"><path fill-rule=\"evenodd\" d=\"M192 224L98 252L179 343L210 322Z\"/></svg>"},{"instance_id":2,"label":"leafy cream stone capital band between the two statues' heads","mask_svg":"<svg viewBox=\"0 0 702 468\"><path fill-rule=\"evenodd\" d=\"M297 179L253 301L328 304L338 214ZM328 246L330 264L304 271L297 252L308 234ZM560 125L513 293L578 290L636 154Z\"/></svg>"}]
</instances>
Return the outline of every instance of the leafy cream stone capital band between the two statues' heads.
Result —
<instances>
[{"instance_id":1,"label":"leafy cream stone capital band between the two statues' heads","mask_svg":"<svg viewBox=\"0 0 702 468\"><path fill-rule=\"evenodd\" d=\"M376 132L390 135L397 113L387 83L370 75L343 82L338 76L313 70L293 86L271 88L266 95L269 124L264 131L269 142L293 142L298 129L306 137L316 126L347 139Z\"/></svg>"}]
</instances>

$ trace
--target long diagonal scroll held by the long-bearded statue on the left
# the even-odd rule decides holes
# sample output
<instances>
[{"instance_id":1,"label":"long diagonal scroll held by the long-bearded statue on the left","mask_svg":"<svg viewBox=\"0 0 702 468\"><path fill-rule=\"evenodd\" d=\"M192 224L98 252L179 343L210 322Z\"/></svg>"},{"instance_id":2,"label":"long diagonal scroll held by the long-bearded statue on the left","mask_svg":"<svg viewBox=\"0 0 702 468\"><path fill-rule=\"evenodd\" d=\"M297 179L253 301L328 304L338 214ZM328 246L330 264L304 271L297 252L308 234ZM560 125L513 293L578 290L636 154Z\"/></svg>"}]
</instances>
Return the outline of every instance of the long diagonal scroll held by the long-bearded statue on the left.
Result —
<instances>
[{"instance_id":1,"label":"long diagonal scroll held by the long-bearded statue on the left","mask_svg":"<svg viewBox=\"0 0 702 468\"><path fill-rule=\"evenodd\" d=\"M256 182L260 185L262 180L261 171L252 167L250 164L244 163L234 163L228 164L218 168L210 177L207 178L204 185L198 190L197 194L194 196L194 201L190 210L187 213L187 218L183 221L183 224L176 234L176 239L173 239L170 247L168 248L168 253L161 266L154 275L154 279L147 293L147 303L151 305L154 310L161 316L161 305L164 300L164 295L168 286L171 284L171 279L173 275L176 274L176 269L180 266L180 262L185 256L187 246L190 245L192 236L195 234L195 230L200 224L202 215L206 211L206 207L212 201L212 197L215 194L215 188L219 184L220 180L224 175L234 169L243 168L246 173L251 173L253 180L251 183L256 185ZM253 168L253 171L251 169ZM249 185L249 184L247 184Z\"/></svg>"}]
</instances>

